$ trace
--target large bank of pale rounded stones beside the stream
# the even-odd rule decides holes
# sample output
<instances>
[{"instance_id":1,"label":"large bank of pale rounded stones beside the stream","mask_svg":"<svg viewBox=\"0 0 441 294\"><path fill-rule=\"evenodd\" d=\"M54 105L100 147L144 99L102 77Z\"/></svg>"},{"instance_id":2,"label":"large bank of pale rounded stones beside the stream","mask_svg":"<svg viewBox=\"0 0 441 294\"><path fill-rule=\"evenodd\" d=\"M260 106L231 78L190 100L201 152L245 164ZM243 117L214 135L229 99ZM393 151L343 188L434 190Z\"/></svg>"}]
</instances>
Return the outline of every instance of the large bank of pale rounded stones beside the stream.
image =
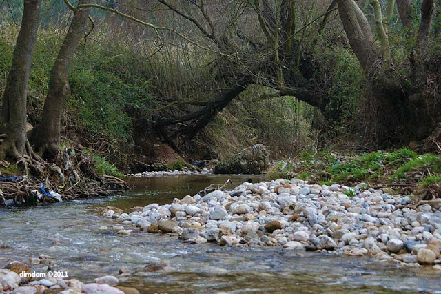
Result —
<instances>
[{"instance_id":1,"label":"large bank of pale rounded stones beside the stream","mask_svg":"<svg viewBox=\"0 0 441 294\"><path fill-rule=\"evenodd\" d=\"M408 196L364 186L310 185L298 179L245 182L230 191L136 207L130 214L108 207L103 216L121 221L111 228L121 235L161 232L193 244L369 255L441 271L441 206L411 208Z\"/></svg>"}]
</instances>

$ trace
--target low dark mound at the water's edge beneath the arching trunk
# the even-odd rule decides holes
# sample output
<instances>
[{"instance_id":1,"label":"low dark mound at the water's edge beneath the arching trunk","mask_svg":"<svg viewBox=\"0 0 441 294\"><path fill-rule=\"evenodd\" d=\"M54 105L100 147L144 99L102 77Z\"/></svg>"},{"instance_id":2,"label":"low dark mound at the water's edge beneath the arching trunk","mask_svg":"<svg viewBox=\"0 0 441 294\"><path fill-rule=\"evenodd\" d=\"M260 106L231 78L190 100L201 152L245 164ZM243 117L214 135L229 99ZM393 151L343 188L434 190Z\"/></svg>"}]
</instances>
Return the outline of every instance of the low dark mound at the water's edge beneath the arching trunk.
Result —
<instances>
[{"instance_id":1,"label":"low dark mound at the water's edge beneath the arching trunk","mask_svg":"<svg viewBox=\"0 0 441 294\"><path fill-rule=\"evenodd\" d=\"M230 159L220 161L214 167L214 173L260 175L268 166L268 157L269 152L265 145L257 144L236 153Z\"/></svg>"}]
</instances>

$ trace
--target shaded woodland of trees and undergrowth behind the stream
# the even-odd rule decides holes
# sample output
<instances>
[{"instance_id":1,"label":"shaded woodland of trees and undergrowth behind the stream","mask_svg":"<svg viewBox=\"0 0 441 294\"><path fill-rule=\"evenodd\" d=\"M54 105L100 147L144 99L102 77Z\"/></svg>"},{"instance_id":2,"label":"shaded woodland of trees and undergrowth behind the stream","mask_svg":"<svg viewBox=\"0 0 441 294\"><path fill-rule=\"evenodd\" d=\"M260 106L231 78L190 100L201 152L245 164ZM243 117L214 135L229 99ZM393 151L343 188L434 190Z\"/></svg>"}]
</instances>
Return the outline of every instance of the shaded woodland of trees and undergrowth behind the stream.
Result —
<instances>
[{"instance_id":1,"label":"shaded woodland of trees and undergrowth behind the stream","mask_svg":"<svg viewBox=\"0 0 441 294\"><path fill-rule=\"evenodd\" d=\"M35 172L76 144L123 170L163 144L438 150L439 4L2 1L1 157Z\"/></svg>"}]
</instances>

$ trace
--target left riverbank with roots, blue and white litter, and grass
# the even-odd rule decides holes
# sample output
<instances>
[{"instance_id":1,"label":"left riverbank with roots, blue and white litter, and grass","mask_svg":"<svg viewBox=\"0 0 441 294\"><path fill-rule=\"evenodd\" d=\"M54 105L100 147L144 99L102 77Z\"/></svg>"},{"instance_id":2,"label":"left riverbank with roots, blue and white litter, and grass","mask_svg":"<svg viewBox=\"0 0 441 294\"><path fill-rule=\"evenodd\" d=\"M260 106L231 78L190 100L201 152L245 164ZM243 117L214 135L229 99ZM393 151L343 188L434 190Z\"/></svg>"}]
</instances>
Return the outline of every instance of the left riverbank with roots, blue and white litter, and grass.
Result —
<instances>
[{"instance_id":1,"label":"left riverbank with roots, blue and white litter, and grass","mask_svg":"<svg viewBox=\"0 0 441 294\"><path fill-rule=\"evenodd\" d=\"M78 144L63 146L51 163L36 158L20 166L0 162L0 208L105 196L130 188L113 164Z\"/></svg>"}]
</instances>

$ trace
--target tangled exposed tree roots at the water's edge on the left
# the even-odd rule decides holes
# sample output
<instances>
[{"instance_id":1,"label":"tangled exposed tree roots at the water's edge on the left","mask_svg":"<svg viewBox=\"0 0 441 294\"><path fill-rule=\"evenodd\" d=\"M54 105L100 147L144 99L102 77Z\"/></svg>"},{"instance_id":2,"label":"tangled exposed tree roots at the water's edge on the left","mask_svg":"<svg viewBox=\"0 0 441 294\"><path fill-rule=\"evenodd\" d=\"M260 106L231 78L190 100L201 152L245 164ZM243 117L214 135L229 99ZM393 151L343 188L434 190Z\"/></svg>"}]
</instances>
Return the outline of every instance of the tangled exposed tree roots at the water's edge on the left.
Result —
<instances>
[{"instance_id":1,"label":"tangled exposed tree roots at the water's edge on the left","mask_svg":"<svg viewBox=\"0 0 441 294\"><path fill-rule=\"evenodd\" d=\"M65 148L52 164L35 154L29 142L26 142L25 154L21 155L12 144L8 155L17 160L23 175L0 182L0 206L11 199L22 204L57 202L55 197L46 194L52 191L61 194L61 199L76 199L109 195L115 190L130 188L117 177L97 175L92 157L79 148ZM46 193L41 190L41 184L44 184Z\"/></svg>"}]
</instances>

